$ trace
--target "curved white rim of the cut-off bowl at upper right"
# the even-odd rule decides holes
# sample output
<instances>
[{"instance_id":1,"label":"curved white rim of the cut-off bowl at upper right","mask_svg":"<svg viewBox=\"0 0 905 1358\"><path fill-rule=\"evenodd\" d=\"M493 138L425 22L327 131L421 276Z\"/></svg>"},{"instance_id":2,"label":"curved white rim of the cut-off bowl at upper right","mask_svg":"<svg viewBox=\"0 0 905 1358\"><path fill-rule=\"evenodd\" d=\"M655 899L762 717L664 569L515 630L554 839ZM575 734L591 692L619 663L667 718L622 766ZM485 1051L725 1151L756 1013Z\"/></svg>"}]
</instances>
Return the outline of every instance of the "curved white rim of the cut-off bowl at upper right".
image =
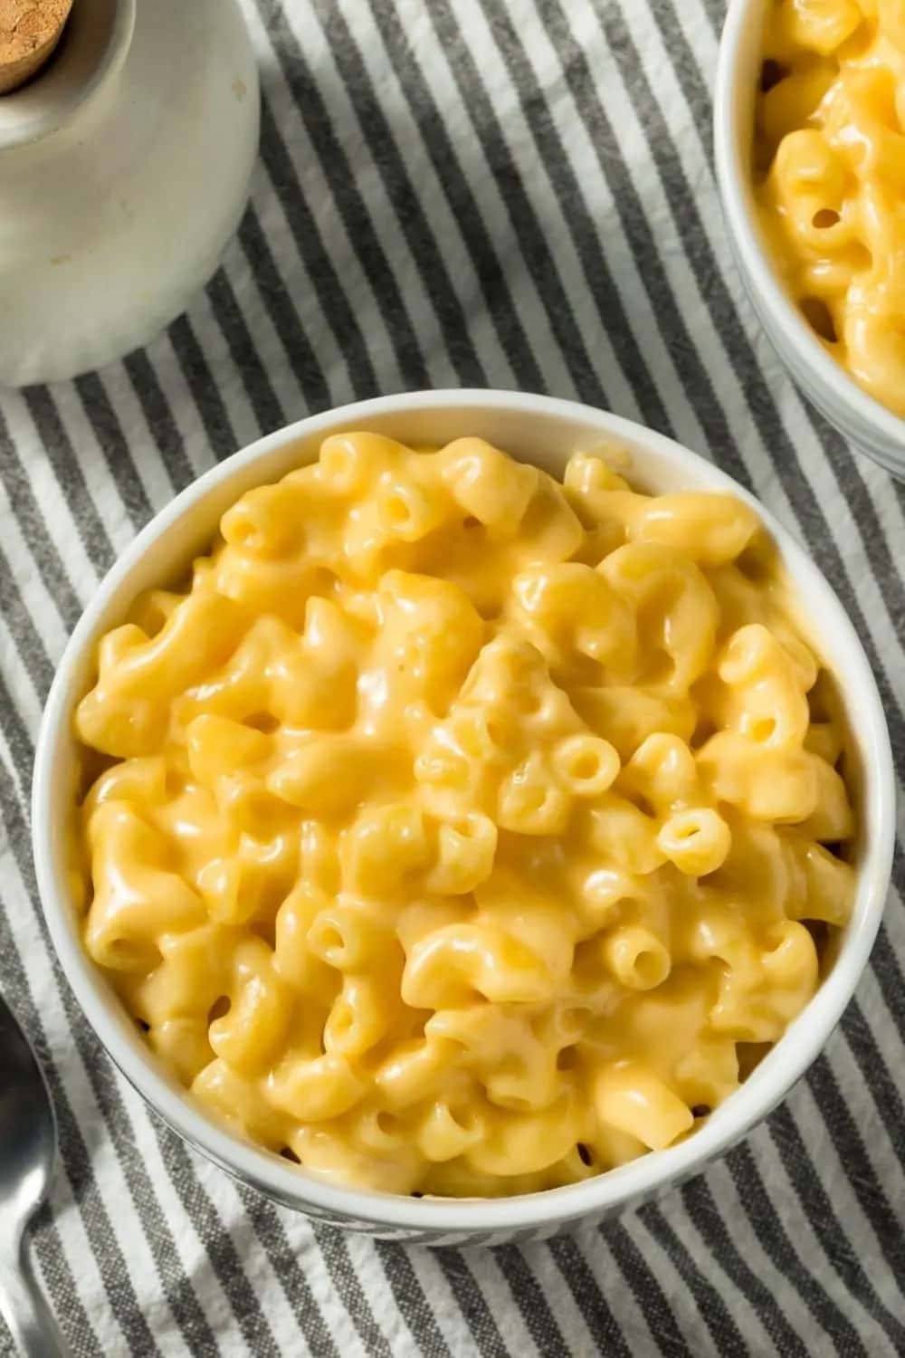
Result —
<instances>
[{"instance_id":1,"label":"curved white rim of the cut-off bowl at upper right","mask_svg":"<svg viewBox=\"0 0 905 1358\"><path fill-rule=\"evenodd\" d=\"M796 356L809 369L811 382L829 390L868 429L902 449L905 460L905 417L871 397L848 368L824 349L783 288L771 261L769 249L757 221L750 174L742 147L746 118L745 100L753 98L738 73L750 45L761 41L764 11L769 0L730 0L716 57L714 84L714 166L730 243L738 255L749 291L780 331L790 335ZM780 357L783 357L780 354ZM786 361L783 359L783 361Z\"/></svg>"}]
</instances>

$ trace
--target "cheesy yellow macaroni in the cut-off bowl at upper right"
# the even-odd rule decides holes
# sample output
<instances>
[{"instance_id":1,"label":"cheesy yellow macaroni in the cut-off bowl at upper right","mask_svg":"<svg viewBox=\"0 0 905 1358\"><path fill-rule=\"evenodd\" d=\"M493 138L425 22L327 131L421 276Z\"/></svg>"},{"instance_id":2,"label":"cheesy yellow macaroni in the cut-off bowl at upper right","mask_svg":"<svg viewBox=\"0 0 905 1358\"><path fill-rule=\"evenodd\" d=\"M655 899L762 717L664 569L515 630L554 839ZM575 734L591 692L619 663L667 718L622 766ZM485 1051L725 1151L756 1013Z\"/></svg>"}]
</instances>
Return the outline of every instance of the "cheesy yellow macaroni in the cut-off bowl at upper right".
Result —
<instances>
[{"instance_id":1,"label":"cheesy yellow macaroni in the cut-off bowl at upper right","mask_svg":"<svg viewBox=\"0 0 905 1358\"><path fill-rule=\"evenodd\" d=\"M828 352L905 416L905 7L773 0L757 99L760 217Z\"/></svg>"}]
</instances>

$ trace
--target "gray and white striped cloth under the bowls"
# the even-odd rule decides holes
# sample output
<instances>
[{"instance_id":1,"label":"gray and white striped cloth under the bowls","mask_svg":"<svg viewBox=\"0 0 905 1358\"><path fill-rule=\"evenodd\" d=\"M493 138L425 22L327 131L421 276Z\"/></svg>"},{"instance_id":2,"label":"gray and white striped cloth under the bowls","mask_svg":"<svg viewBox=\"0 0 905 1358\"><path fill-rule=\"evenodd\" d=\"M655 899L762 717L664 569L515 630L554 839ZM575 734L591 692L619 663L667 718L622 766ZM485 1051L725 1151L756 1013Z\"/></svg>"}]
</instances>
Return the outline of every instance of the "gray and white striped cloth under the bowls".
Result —
<instances>
[{"instance_id":1,"label":"gray and white striped cloth under the bowls","mask_svg":"<svg viewBox=\"0 0 905 1358\"><path fill-rule=\"evenodd\" d=\"M769 1122L659 1202L525 1248L271 1206L147 1112L66 989L27 823L65 638L174 492L357 397L550 391L712 458L839 591L905 773L905 488L802 403L742 297L711 168L722 0L244 5L262 148L223 268L149 349L0 394L0 985L60 1118L37 1256L73 1354L905 1353L901 850L871 970Z\"/></svg>"}]
</instances>

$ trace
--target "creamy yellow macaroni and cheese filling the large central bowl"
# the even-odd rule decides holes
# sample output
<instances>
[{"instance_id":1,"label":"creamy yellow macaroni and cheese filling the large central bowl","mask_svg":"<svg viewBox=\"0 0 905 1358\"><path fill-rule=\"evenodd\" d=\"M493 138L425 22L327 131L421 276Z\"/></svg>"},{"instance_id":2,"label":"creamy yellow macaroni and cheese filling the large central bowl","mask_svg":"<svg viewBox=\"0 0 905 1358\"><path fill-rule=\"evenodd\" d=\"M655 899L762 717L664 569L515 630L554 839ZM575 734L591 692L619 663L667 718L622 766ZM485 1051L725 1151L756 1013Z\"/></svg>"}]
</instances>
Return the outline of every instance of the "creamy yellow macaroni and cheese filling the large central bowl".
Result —
<instances>
[{"instance_id":1,"label":"creamy yellow macaroni and cheese filling the large central bowl","mask_svg":"<svg viewBox=\"0 0 905 1358\"><path fill-rule=\"evenodd\" d=\"M242 1134L506 1194L688 1134L845 922L845 733L753 512L327 439L76 713L84 942Z\"/></svg>"}]
</instances>

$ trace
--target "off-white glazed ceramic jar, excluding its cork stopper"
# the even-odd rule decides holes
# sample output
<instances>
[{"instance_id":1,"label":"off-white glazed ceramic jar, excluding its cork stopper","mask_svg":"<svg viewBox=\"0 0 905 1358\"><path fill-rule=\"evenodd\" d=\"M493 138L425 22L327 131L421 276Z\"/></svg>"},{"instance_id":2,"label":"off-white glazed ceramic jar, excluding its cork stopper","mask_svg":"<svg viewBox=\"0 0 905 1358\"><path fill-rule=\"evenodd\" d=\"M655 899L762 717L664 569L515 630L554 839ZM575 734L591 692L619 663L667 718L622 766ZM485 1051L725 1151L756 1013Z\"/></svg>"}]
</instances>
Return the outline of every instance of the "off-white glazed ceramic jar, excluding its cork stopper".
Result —
<instances>
[{"instance_id":1,"label":"off-white glazed ceramic jar, excluding its cork stopper","mask_svg":"<svg viewBox=\"0 0 905 1358\"><path fill-rule=\"evenodd\" d=\"M0 98L0 384L98 368L179 315L239 223L258 128L236 0L77 0Z\"/></svg>"}]
</instances>

